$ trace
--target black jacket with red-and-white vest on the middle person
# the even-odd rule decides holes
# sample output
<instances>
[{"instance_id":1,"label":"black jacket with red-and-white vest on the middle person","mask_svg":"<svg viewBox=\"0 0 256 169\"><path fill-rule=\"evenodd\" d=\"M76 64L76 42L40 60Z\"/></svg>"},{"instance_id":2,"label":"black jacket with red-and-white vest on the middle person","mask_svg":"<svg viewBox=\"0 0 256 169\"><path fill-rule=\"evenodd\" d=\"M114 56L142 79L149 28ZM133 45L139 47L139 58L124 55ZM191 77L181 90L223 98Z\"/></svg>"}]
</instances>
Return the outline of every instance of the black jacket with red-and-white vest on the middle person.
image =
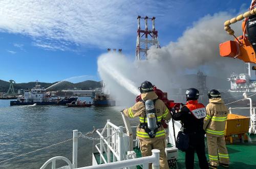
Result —
<instances>
[{"instance_id":1,"label":"black jacket with red-and-white vest on the middle person","mask_svg":"<svg viewBox=\"0 0 256 169\"><path fill-rule=\"evenodd\" d=\"M173 119L181 121L183 132L186 134L205 134L203 130L205 111L204 105L198 103L198 100L189 100L176 114L173 114Z\"/></svg>"}]
</instances>

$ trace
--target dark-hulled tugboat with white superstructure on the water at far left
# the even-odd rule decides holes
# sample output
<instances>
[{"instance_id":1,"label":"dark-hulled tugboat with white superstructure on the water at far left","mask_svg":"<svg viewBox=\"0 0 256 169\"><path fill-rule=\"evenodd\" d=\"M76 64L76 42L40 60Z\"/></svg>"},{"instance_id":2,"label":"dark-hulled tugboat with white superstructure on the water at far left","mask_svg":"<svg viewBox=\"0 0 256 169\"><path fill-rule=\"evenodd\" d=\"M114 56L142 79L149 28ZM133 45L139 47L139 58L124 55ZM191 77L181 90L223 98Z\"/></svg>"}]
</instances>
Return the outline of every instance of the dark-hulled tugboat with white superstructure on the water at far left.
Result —
<instances>
[{"instance_id":1,"label":"dark-hulled tugboat with white superstructure on the water at far left","mask_svg":"<svg viewBox=\"0 0 256 169\"><path fill-rule=\"evenodd\" d=\"M26 89L24 95L19 95L15 101L10 101L10 105L33 105L34 103L36 105L66 105L77 100L77 97L53 98L52 96L55 97L54 94L53 92L46 92L46 89L36 82L31 91Z\"/></svg>"}]
</instances>

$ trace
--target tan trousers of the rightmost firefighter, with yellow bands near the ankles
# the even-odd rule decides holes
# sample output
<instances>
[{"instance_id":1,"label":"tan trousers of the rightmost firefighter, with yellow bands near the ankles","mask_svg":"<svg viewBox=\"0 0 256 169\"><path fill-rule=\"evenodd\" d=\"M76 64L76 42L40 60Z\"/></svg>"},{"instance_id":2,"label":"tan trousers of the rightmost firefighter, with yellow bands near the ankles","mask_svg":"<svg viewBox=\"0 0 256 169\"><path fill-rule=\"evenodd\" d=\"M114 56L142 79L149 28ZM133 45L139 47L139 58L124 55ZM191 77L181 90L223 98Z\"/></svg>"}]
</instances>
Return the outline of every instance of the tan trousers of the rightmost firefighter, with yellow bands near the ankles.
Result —
<instances>
[{"instance_id":1,"label":"tan trousers of the rightmost firefighter, with yellow bands near the ankles","mask_svg":"<svg viewBox=\"0 0 256 169\"><path fill-rule=\"evenodd\" d=\"M219 162L229 164L229 156L224 136L212 136L206 134L210 164L218 166Z\"/></svg>"}]
</instances>

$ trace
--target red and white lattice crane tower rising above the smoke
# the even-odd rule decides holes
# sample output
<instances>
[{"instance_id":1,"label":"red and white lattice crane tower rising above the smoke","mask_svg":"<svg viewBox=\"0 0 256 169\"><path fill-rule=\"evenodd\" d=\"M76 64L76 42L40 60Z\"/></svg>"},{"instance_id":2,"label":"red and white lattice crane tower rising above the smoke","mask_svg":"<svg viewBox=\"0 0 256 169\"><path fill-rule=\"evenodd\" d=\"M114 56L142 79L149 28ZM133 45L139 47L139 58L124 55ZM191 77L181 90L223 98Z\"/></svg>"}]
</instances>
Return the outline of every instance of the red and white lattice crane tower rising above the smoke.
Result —
<instances>
[{"instance_id":1,"label":"red and white lattice crane tower rising above the smoke","mask_svg":"<svg viewBox=\"0 0 256 169\"><path fill-rule=\"evenodd\" d=\"M140 19L145 20L145 30L141 30ZM147 50L150 46L155 45L160 48L158 41L158 32L155 29L155 17L149 18L147 16L138 16L138 31L137 31L137 46L136 46L136 60L142 60L147 58ZM152 20L152 31L147 28L147 20Z\"/></svg>"}]
</instances>

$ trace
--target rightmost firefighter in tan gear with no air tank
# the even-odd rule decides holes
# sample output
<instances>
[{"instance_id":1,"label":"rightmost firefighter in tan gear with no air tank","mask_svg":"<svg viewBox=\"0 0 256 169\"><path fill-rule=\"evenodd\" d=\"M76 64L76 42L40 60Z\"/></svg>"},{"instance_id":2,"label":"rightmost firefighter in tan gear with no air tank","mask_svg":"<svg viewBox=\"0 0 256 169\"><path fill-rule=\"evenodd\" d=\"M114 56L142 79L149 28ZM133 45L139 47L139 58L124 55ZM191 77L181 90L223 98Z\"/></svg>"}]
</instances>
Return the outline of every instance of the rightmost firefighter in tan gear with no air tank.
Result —
<instances>
[{"instance_id":1,"label":"rightmost firefighter in tan gear with no air tank","mask_svg":"<svg viewBox=\"0 0 256 169\"><path fill-rule=\"evenodd\" d=\"M206 106L207 116L204 119L204 129L210 159L209 167L217 168L218 165L228 167L229 156L224 138L228 109L219 91L210 90L208 97L209 104Z\"/></svg>"}]
</instances>

